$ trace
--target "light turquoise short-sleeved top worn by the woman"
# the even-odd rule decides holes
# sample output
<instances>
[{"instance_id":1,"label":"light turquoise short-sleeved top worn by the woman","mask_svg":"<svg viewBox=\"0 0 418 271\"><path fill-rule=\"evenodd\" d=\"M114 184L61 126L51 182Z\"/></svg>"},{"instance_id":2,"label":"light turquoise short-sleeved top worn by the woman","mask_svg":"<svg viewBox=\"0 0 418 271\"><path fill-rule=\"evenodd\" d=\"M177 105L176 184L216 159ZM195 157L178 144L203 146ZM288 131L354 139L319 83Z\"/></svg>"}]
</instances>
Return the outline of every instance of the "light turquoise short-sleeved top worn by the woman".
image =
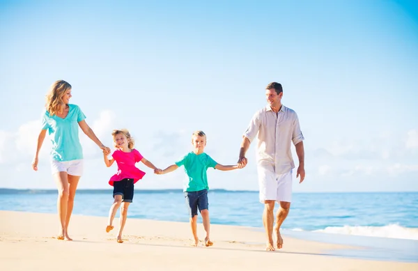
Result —
<instances>
[{"instance_id":1,"label":"light turquoise short-sleeved top worn by the woman","mask_svg":"<svg viewBox=\"0 0 418 271\"><path fill-rule=\"evenodd\" d=\"M68 104L68 107L70 108L65 118L51 116L47 110L42 114L42 130L48 131L52 142L51 157L61 162L83 159L78 123L86 116L77 105Z\"/></svg>"}]
</instances>

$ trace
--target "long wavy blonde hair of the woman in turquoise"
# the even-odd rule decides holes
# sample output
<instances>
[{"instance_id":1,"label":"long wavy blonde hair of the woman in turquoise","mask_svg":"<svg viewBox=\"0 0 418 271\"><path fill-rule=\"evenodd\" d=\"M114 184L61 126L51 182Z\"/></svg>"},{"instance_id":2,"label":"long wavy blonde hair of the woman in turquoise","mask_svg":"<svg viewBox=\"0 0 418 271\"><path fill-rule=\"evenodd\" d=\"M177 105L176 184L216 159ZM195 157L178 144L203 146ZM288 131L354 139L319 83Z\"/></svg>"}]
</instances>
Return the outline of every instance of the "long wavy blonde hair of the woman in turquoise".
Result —
<instances>
[{"instance_id":1,"label":"long wavy blonde hair of the woman in turquoise","mask_svg":"<svg viewBox=\"0 0 418 271\"><path fill-rule=\"evenodd\" d=\"M64 80L54 82L51 88L49 88L45 108L51 116L54 116L57 113L63 113L65 106L67 105L63 102L63 95L65 95L69 89L71 89L71 85Z\"/></svg>"}]
</instances>

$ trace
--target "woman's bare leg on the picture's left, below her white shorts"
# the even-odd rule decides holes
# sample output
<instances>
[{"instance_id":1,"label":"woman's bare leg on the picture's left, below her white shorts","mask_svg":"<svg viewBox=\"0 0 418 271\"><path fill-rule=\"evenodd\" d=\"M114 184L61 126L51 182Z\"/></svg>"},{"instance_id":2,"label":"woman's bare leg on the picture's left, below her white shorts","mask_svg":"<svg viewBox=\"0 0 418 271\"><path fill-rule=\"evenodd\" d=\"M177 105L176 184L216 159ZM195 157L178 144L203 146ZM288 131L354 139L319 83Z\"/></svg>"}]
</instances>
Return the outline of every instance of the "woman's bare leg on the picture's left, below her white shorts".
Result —
<instances>
[{"instance_id":1,"label":"woman's bare leg on the picture's left, below her white shorts","mask_svg":"<svg viewBox=\"0 0 418 271\"><path fill-rule=\"evenodd\" d=\"M65 220L67 217L68 195L70 194L68 191L68 174L65 171L54 173L54 180L58 189L56 209L58 210L59 221L61 223L61 229L57 239L64 240L67 235Z\"/></svg>"}]
</instances>

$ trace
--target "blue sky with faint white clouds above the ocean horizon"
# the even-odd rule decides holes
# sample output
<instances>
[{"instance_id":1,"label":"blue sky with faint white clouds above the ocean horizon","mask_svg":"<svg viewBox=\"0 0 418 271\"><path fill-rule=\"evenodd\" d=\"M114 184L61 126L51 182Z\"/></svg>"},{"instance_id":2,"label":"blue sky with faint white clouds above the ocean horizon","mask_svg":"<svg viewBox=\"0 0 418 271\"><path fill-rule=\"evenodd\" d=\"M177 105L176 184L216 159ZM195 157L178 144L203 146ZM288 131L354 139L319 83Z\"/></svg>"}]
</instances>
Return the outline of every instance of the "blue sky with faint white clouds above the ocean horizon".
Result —
<instances>
[{"instance_id":1,"label":"blue sky with faint white clouds above the ocean horizon","mask_svg":"<svg viewBox=\"0 0 418 271\"><path fill-rule=\"evenodd\" d=\"M0 1L0 36L0 187L55 187L47 141L40 170L30 164L56 79L104 144L126 127L162 168L191 150L194 130L234 164L275 81L306 139L295 192L418 191L414 1ZM116 165L81 139L79 187L109 187ZM209 171L211 188L257 189L252 145L245 169ZM139 167L138 189L182 186L181 169Z\"/></svg>"}]
</instances>

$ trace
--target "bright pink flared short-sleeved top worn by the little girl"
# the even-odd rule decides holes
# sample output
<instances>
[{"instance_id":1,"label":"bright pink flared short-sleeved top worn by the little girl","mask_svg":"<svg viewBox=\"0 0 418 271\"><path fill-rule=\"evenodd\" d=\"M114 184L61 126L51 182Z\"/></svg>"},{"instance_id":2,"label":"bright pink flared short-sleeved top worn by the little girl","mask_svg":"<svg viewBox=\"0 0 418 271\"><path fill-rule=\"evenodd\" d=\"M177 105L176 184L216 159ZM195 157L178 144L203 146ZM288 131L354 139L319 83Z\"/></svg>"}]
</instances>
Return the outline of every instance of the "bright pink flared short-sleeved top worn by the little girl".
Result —
<instances>
[{"instance_id":1,"label":"bright pink flared short-sleeved top worn by the little girl","mask_svg":"<svg viewBox=\"0 0 418 271\"><path fill-rule=\"evenodd\" d=\"M118 164L118 173L111 176L109 185L113 186L114 182L118 182L125 178L132 178L134 179L134 183L137 183L138 180L141 180L141 178L144 177L145 172L135 167L135 163L141 161L144 157L138 150L132 149L130 153L125 153L122 150L115 150L111 157L113 157L116 164Z\"/></svg>"}]
</instances>

